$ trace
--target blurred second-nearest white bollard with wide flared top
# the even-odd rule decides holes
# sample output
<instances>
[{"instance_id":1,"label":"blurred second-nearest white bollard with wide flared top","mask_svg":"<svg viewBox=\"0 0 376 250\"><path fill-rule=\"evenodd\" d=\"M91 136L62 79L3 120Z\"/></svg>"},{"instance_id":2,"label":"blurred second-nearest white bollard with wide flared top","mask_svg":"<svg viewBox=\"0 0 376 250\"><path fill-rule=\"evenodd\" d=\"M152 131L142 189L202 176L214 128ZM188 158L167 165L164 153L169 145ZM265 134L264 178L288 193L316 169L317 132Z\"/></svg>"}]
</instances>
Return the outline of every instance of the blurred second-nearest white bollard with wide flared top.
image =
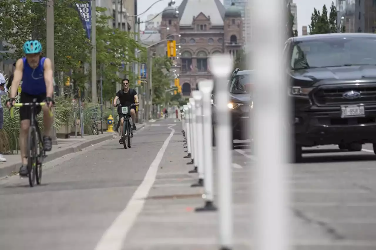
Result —
<instances>
[{"instance_id":1,"label":"blurred second-nearest white bollard with wide flared top","mask_svg":"<svg viewBox=\"0 0 376 250\"><path fill-rule=\"evenodd\" d=\"M230 110L227 107L230 97L227 79L230 76L233 57L229 54L213 55L209 59L211 72L215 78L216 99L216 145L218 166L218 208L220 249L233 247L232 211L232 136Z\"/></svg>"}]
</instances>

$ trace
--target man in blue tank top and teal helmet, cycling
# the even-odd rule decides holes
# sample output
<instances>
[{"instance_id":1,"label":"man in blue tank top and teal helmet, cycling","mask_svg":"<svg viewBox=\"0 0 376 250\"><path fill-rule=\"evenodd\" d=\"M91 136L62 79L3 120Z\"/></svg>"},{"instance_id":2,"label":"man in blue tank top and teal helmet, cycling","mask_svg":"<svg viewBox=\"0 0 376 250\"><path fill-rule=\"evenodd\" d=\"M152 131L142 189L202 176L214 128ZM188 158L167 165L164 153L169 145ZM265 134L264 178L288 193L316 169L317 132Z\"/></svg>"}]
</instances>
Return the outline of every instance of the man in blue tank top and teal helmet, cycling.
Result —
<instances>
[{"instance_id":1,"label":"man in blue tank top and teal helmet, cycling","mask_svg":"<svg viewBox=\"0 0 376 250\"><path fill-rule=\"evenodd\" d=\"M33 102L36 98L37 102L46 102L47 105L36 108L36 113L39 114L43 110L44 123L44 150L51 151L52 141L50 137L50 130L53 118L49 114L49 109L52 108L53 102L53 70L52 62L49 58L42 57L42 44L37 40L26 41L23 45L23 51L26 57L18 59L16 62L16 69L14 71L14 78L11 85L11 92L9 99L6 102L8 108L15 104L15 96L17 94L18 86L22 80L22 91L20 94L20 102ZM20 107L20 149L22 166L20 168L20 175L27 176L27 133L30 127L31 107Z\"/></svg>"}]
</instances>

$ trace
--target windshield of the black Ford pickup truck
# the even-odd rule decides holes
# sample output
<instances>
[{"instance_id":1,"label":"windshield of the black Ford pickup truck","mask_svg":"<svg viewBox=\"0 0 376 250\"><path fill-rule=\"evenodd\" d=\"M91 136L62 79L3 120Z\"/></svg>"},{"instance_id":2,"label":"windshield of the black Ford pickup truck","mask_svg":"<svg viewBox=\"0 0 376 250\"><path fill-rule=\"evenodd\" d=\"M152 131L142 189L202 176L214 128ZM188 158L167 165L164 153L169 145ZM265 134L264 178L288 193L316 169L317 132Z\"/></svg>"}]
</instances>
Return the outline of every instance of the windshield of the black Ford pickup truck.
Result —
<instances>
[{"instance_id":1,"label":"windshield of the black Ford pickup truck","mask_svg":"<svg viewBox=\"0 0 376 250\"><path fill-rule=\"evenodd\" d=\"M376 36L332 37L294 44L292 69L376 65Z\"/></svg>"}]
</instances>

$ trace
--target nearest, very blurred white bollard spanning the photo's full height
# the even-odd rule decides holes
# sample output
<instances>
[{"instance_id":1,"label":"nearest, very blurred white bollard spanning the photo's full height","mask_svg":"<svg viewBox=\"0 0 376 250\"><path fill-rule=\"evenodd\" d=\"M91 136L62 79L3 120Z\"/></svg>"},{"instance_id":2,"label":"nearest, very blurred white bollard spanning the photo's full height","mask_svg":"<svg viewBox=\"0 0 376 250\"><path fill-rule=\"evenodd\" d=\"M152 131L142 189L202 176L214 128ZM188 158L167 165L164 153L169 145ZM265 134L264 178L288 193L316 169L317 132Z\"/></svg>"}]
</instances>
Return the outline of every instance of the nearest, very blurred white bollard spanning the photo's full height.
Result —
<instances>
[{"instance_id":1,"label":"nearest, very blurred white bollard spanning the photo's full height","mask_svg":"<svg viewBox=\"0 0 376 250\"><path fill-rule=\"evenodd\" d=\"M254 69L252 83L255 83L252 89L255 103L253 126L250 126L253 128L254 154L257 158L250 175L254 183L250 187L253 190L254 214L251 223L254 226L255 250L294 248L290 242L292 226L289 225L290 169L287 162L290 147L284 126L293 123L293 116L289 113L293 109L289 107L285 65L288 58L283 58L282 51L287 39L286 2L249 1L249 6L252 6L249 8L250 17L257 24L252 25L250 44L254 47L249 53L249 62L252 62Z\"/></svg>"}]
</instances>

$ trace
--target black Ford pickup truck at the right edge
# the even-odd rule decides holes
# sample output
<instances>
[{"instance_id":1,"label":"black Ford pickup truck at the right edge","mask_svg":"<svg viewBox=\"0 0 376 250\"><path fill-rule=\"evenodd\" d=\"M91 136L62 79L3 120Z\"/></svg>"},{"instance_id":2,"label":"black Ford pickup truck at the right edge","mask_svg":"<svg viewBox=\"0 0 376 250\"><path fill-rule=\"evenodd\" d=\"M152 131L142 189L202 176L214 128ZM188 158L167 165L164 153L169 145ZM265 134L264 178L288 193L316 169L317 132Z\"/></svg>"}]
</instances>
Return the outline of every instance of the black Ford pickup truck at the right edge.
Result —
<instances>
[{"instance_id":1,"label":"black Ford pickup truck at the right edge","mask_svg":"<svg viewBox=\"0 0 376 250\"><path fill-rule=\"evenodd\" d=\"M334 33L287 40L295 160L302 147L338 145L376 154L376 34Z\"/></svg>"}]
</instances>

